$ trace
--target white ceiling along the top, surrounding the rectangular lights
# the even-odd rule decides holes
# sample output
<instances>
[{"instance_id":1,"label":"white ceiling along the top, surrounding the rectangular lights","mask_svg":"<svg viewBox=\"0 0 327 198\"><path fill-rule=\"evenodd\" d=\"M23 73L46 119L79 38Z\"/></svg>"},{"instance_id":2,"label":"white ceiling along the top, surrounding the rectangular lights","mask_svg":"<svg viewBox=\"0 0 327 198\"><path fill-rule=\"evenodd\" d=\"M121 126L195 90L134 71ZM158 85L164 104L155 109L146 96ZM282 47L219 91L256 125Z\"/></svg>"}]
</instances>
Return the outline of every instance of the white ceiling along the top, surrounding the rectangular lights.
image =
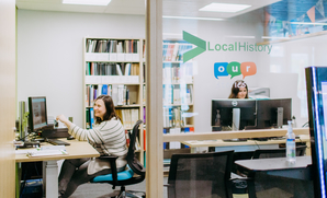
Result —
<instances>
[{"instance_id":1,"label":"white ceiling along the top, surrounding the rectangular lights","mask_svg":"<svg viewBox=\"0 0 327 198\"><path fill-rule=\"evenodd\" d=\"M106 7L63 4L61 1L63 0L16 0L16 7L22 10L145 15L146 0L112 0ZM172 16L232 18L277 1L280 0L162 0L162 14ZM252 7L237 13L199 11L200 8L212 2L251 4Z\"/></svg>"}]
</instances>

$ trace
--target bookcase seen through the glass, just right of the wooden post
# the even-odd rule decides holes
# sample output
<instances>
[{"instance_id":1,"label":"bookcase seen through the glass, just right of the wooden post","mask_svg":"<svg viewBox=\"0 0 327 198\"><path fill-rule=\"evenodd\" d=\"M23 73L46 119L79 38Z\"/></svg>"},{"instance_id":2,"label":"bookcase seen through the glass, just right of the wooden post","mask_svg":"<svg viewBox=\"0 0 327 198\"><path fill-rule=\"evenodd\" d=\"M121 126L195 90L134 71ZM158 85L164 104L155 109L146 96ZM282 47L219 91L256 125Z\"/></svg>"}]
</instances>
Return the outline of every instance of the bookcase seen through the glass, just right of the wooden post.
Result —
<instances>
[{"instance_id":1,"label":"bookcase seen through the glass, just right of the wooden post","mask_svg":"<svg viewBox=\"0 0 327 198\"><path fill-rule=\"evenodd\" d=\"M183 62L182 57L191 48L192 45L183 40L164 40L162 44L164 133L194 131L194 62ZM164 143L165 152L180 149L179 142Z\"/></svg>"}]
</instances>

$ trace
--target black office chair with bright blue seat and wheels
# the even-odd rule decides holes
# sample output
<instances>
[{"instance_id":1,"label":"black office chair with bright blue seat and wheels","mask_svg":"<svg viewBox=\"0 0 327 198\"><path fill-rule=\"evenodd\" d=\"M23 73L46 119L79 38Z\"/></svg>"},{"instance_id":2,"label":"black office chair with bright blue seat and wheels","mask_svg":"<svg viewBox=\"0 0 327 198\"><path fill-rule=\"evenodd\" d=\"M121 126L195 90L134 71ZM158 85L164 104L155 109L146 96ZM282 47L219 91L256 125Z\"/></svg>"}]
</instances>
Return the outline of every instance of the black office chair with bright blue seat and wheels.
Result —
<instances>
[{"instance_id":1,"label":"black office chair with bright blue seat and wheels","mask_svg":"<svg viewBox=\"0 0 327 198\"><path fill-rule=\"evenodd\" d=\"M117 173L115 164L117 156L100 156L110 161L112 173L97 176L92 179L92 183L108 183L112 185L113 189L115 189L116 186L121 186L121 190L115 190L109 195L112 198L145 197L145 193L143 191L125 190L125 186L137 184L145 179L145 168L135 156L135 142L138 136L138 127L142 123L142 120L138 120L133 127L132 135L129 135L131 140L127 153L127 170Z\"/></svg>"}]
</instances>

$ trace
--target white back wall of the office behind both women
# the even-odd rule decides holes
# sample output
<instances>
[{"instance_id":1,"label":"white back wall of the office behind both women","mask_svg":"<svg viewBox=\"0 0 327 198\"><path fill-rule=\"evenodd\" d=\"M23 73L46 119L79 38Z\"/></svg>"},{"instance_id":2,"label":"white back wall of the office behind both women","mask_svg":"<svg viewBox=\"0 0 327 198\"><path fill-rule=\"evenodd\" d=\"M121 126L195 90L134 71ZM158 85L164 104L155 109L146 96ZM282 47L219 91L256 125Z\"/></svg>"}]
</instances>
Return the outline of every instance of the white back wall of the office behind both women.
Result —
<instances>
[{"instance_id":1,"label":"white back wall of the office behind both women","mask_svg":"<svg viewBox=\"0 0 327 198\"><path fill-rule=\"evenodd\" d=\"M187 31L211 43L261 42L261 12L255 11L224 22L164 19L164 33ZM82 125L82 37L145 37L145 18L25 11L18 12L18 100L47 96L48 115L72 116ZM230 38L227 36L255 36ZM174 37L174 36L170 36ZM181 36L177 37L181 38ZM270 88L271 97L292 97L293 115L301 127L307 121L304 68L326 66L324 55L327 36L273 44L273 51L205 51L194 58L195 130L211 130L211 100L227 98L232 84L243 75L230 79L214 77L214 62L253 61L257 74L246 77L250 88Z\"/></svg>"}]
</instances>

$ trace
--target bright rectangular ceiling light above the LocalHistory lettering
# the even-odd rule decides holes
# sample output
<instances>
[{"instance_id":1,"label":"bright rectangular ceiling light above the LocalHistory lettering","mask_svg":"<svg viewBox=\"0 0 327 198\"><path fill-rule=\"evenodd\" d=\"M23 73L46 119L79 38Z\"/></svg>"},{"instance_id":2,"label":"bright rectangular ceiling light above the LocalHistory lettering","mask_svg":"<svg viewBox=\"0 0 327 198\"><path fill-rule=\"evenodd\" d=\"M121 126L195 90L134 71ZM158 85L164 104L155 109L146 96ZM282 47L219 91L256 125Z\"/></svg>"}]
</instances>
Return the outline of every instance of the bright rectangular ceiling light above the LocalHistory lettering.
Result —
<instances>
[{"instance_id":1,"label":"bright rectangular ceiling light above the LocalHistory lettering","mask_svg":"<svg viewBox=\"0 0 327 198\"><path fill-rule=\"evenodd\" d=\"M230 4L230 3L211 3L203 8L201 8L199 11L207 11L207 12L239 12L241 10L245 10L247 8L250 8L249 4Z\"/></svg>"}]
</instances>

